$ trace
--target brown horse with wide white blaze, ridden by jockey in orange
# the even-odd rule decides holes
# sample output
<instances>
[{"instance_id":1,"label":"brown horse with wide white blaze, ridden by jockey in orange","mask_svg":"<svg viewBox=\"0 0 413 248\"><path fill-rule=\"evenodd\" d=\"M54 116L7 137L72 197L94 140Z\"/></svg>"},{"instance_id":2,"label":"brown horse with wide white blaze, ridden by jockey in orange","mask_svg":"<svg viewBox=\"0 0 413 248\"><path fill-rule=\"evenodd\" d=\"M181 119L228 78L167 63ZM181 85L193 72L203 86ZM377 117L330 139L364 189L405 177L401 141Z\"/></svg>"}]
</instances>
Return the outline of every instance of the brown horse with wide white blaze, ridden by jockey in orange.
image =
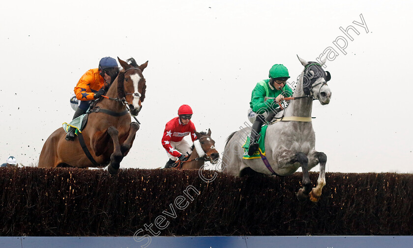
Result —
<instances>
[{"instance_id":1,"label":"brown horse with wide white blaze, ridden by jockey in orange","mask_svg":"<svg viewBox=\"0 0 413 248\"><path fill-rule=\"evenodd\" d=\"M139 130L131 116L138 115L145 99L146 80L142 75L148 61L138 65L135 59L127 62L118 57L122 66L118 77L109 86L105 96L91 108L86 127L74 141L65 139L61 127L45 141L38 167L106 167L111 174L118 172L120 162L132 147ZM129 114L130 113L130 114ZM89 150L86 155L78 141L83 137Z\"/></svg>"}]
</instances>

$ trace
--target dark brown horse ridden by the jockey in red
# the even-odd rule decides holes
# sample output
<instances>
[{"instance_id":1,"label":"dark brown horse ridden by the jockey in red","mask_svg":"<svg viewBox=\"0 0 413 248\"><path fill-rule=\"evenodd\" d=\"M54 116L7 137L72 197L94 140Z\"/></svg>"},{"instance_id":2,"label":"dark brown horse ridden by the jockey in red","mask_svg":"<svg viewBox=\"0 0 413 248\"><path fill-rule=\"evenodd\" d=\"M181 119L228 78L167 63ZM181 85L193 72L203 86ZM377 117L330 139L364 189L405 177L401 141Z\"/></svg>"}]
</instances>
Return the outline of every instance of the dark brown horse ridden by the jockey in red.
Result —
<instances>
[{"instance_id":1,"label":"dark brown horse ridden by the jockey in red","mask_svg":"<svg viewBox=\"0 0 413 248\"><path fill-rule=\"evenodd\" d=\"M197 139L194 141L191 155L188 160L178 161L175 169L200 169L205 162L215 164L218 162L219 153L215 149L215 141L211 138L211 130L208 133L194 131Z\"/></svg>"}]
</instances>

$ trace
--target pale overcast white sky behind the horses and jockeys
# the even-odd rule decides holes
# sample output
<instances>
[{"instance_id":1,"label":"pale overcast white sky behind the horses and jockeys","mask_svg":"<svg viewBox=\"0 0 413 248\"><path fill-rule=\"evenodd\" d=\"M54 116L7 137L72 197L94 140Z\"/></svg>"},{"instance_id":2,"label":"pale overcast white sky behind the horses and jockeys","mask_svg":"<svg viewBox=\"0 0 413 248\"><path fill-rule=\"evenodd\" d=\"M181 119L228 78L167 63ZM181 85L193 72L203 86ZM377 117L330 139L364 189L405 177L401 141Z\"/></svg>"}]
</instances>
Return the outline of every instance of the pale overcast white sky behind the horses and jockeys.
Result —
<instances>
[{"instance_id":1,"label":"pale overcast white sky behind the horses and jockeys","mask_svg":"<svg viewBox=\"0 0 413 248\"><path fill-rule=\"evenodd\" d=\"M282 63L290 82L296 55L327 61L332 99L314 102L316 149L327 171L413 172L409 1L7 1L0 9L0 162L37 163L44 140L74 111L79 78L104 56L140 64L147 98L122 167L155 168L167 121L182 104L198 131L210 128L217 150L247 120L251 91ZM362 14L368 28L361 23ZM339 28L353 26L350 40ZM344 55L334 46L342 36ZM340 38L339 38L340 39ZM340 43L341 42L341 43ZM338 41L344 44L343 40ZM318 167L316 167L318 169Z\"/></svg>"}]
</instances>

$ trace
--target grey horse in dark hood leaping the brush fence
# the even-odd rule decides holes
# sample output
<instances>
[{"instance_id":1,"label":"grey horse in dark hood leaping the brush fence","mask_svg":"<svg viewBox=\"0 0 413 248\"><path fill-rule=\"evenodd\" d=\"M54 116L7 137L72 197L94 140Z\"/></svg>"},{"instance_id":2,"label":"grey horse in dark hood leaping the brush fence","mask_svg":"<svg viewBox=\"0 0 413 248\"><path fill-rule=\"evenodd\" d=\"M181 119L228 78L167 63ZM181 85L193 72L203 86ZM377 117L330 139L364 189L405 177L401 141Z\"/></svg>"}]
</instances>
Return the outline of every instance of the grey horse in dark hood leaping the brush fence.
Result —
<instances>
[{"instance_id":1,"label":"grey horse in dark hood leaping the brush fence","mask_svg":"<svg viewBox=\"0 0 413 248\"><path fill-rule=\"evenodd\" d=\"M298 59L304 69L291 97L291 102L287 108L275 115L276 121L273 119L272 124L267 127L265 157L242 159L245 134L251 132L251 127L246 127L228 137L222 158L222 170L234 176L258 173L287 176L301 167L303 188L298 191L297 198L300 201L310 198L311 201L316 202L320 199L325 185L327 157L323 152L315 149L311 110L313 100L319 100L322 105L330 102L331 91L326 82L331 76L322 68L326 58L321 63L307 62L300 57ZM311 188L308 170L319 163L320 174L317 187Z\"/></svg>"}]
</instances>

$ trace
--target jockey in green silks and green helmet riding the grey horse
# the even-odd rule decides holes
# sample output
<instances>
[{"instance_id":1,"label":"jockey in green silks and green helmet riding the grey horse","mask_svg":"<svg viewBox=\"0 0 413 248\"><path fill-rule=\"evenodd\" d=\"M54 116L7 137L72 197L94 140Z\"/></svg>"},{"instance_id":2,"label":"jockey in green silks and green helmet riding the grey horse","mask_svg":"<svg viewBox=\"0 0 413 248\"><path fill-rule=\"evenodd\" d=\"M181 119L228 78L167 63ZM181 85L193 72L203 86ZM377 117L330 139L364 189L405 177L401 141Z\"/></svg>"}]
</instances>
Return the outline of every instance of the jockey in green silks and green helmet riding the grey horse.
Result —
<instances>
[{"instance_id":1,"label":"jockey in green silks and green helmet riding the grey horse","mask_svg":"<svg viewBox=\"0 0 413 248\"><path fill-rule=\"evenodd\" d=\"M288 86L290 78L287 67L275 64L269 69L269 79L257 83L251 93L250 107L257 114L252 124L248 155L252 156L258 150L258 134L265 120L270 121L281 109L277 102L284 97L293 96L293 90ZM267 117L264 116L267 113Z\"/></svg>"}]
</instances>

